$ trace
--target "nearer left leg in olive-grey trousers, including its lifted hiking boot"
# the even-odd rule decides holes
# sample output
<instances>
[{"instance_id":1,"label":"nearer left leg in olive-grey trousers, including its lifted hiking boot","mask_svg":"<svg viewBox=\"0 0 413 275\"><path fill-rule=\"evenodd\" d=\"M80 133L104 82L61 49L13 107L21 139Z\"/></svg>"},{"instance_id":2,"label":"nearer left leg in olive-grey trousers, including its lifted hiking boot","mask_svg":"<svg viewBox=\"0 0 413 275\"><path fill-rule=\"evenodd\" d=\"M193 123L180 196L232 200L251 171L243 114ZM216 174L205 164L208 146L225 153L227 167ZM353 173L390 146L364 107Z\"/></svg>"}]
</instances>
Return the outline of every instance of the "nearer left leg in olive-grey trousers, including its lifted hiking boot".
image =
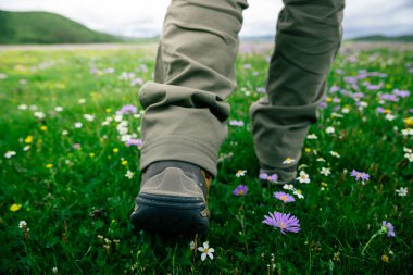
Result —
<instances>
[{"instance_id":1,"label":"nearer left leg in olive-grey trousers, including its lifted hiking boot","mask_svg":"<svg viewBox=\"0 0 413 275\"><path fill-rule=\"evenodd\" d=\"M234 62L246 0L173 0L155 82L139 93L143 172L132 223L167 234L203 234L208 189L227 135Z\"/></svg>"}]
</instances>

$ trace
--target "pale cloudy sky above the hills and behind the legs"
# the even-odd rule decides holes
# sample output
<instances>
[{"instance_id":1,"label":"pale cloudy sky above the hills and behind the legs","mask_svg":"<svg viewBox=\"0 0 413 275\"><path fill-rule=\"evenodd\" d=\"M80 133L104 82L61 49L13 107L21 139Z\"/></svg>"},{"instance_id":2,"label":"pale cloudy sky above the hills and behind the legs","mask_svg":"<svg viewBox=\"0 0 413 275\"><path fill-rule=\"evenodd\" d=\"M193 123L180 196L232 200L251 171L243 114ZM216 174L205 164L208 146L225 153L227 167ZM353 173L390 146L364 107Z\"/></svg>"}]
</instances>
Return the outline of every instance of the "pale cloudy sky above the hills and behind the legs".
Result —
<instances>
[{"instance_id":1,"label":"pale cloudy sky above the hills and behind the legs","mask_svg":"<svg viewBox=\"0 0 413 275\"><path fill-rule=\"evenodd\" d=\"M205 0L210 1L210 0ZM311 1L311 0L310 0ZM0 10L49 11L114 35L152 37L162 32L171 0L0 0ZM274 35L281 0L249 0L241 37ZM347 0L345 38L413 34L413 0Z\"/></svg>"}]
</instances>

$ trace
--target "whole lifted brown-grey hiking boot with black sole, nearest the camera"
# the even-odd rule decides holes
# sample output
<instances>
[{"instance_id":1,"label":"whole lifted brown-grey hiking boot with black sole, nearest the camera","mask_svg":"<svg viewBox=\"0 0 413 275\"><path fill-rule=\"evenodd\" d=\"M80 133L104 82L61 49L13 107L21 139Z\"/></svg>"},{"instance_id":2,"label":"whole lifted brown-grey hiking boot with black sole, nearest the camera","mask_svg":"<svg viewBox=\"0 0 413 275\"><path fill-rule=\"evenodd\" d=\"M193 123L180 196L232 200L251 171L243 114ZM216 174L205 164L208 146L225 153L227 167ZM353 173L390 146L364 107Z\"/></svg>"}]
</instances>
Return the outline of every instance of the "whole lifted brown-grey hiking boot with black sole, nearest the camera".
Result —
<instances>
[{"instance_id":1,"label":"whole lifted brown-grey hiking boot with black sole, nearest the camera","mask_svg":"<svg viewBox=\"0 0 413 275\"><path fill-rule=\"evenodd\" d=\"M152 163L142 175L130 222L152 233L206 234L211 180L211 175L190 163Z\"/></svg>"}]
</instances>

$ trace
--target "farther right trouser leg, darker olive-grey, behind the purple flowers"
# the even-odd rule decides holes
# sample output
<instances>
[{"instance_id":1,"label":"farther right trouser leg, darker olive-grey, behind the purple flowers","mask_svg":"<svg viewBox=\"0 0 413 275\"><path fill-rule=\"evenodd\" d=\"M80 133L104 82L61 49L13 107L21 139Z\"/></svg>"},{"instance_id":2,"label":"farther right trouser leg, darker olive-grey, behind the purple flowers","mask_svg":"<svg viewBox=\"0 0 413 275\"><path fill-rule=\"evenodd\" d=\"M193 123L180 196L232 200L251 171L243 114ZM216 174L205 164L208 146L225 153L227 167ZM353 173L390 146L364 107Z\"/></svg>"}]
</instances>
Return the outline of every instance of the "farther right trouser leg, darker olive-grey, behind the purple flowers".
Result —
<instances>
[{"instance_id":1,"label":"farther right trouser leg, darker olive-grey, behind the purple flowers","mask_svg":"<svg viewBox=\"0 0 413 275\"><path fill-rule=\"evenodd\" d=\"M341 43L345 0L284 0L275 50L267 77L267 96L250 108L254 148L261 173L280 182L297 176L309 125L326 77ZM295 163L283 164L286 158Z\"/></svg>"}]
</instances>

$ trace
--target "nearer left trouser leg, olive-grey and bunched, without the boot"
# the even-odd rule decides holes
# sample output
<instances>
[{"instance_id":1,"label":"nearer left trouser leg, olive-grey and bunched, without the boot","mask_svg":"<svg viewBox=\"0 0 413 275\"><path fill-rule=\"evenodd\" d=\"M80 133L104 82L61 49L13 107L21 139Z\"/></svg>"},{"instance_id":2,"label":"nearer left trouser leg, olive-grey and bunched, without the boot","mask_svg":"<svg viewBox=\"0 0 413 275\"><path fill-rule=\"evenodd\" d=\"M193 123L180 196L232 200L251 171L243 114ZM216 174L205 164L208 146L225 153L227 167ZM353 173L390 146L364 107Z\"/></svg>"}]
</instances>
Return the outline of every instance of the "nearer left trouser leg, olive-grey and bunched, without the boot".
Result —
<instances>
[{"instance_id":1,"label":"nearer left trouser leg, olive-grey and bunched, without the boot","mask_svg":"<svg viewBox=\"0 0 413 275\"><path fill-rule=\"evenodd\" d=\"M159 43L154 83L145 108L140 168L163 160L185 161L216 175L236 87L234 62L246 0L172 0Z\"/></svg>"}]
</instances>

